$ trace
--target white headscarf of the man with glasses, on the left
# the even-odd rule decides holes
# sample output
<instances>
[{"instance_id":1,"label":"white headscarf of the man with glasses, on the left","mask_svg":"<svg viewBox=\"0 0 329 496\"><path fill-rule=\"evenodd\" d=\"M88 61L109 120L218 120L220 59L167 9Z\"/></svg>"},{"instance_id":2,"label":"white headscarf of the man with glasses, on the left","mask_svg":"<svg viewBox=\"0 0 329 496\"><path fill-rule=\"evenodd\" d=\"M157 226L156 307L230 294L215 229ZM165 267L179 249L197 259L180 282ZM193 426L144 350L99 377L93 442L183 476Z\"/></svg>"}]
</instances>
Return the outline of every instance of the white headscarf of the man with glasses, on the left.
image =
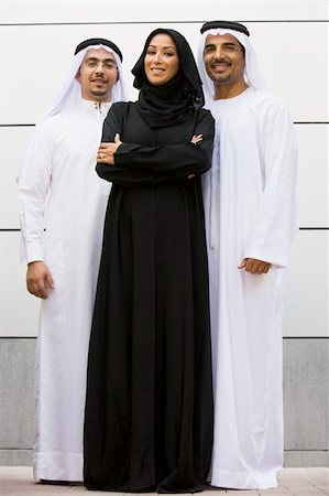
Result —
<instances>
[{"instance_id":1,"label":"white headscarf of the man with glasses, on the left","mask_svg":"<svg viewBox=\"0 0 329 496\"><path fill-rule=\"evenodd\" d=\"M119 79L117 80L117 83L112 88L112 103L114 104L116 101L127 101L129 99L129 94L123 80L122 65L119 55L114 52L114 50L102 44L88 45L86 48L83 48L74 56L69 73L67 75L66 82L62 90L57 95L57 98L54 100L51 108L42 116L42 118L37 123L41 123L51 116L55 116L64 107L67 108L67 106L73 105L74 103L77 101L77 97L81 93L80 84L76 80L77 72L88 50L99 50L99 48L103 48L107 52L113 54L117 62Z\"/></svg>"}]
</instances>

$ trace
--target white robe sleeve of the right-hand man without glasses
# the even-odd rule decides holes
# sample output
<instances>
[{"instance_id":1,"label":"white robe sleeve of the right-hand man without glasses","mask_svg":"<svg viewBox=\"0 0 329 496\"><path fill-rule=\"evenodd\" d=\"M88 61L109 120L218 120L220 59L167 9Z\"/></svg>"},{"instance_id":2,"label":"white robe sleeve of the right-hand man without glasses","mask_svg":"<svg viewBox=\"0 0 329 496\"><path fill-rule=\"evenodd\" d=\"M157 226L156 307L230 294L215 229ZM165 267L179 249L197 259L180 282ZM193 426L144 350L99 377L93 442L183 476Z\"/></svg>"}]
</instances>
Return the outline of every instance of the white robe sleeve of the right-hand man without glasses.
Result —
<instances>
[{"instance_id":1,"label":"white robe sleeve of the right-hand man without glasses","mask_svg":"<svg viewBox=\"0 0 329 496\"><path fill-rule=\"evenodd\" d=\"M276 100L261 109L257 120L264 188L244 258L286 267L288 247L298 228L294 125Z\"/></svg>"}]
</instances>

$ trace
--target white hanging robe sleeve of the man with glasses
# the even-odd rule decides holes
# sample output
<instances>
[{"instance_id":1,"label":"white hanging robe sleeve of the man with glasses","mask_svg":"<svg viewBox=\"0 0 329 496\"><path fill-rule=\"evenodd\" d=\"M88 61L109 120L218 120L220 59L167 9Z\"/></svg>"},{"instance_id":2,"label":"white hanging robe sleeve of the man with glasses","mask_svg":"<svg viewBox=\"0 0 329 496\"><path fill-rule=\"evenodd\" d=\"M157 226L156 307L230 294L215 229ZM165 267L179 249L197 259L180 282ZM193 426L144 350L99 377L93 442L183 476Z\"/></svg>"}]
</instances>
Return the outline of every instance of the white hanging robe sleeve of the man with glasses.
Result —
<instances>
[{"instance_id":1,"label":"white hanging robe sleeve of the man with glasses","mask_svg":"<svg viewBox=\"0 0 329 496\"><path fill-rule=\"evenodd\" d=\"M53 140L46 122L35 130L18 177L21 261L43 260L45 200L52 175Z\"/></svg>"}]
</instances>

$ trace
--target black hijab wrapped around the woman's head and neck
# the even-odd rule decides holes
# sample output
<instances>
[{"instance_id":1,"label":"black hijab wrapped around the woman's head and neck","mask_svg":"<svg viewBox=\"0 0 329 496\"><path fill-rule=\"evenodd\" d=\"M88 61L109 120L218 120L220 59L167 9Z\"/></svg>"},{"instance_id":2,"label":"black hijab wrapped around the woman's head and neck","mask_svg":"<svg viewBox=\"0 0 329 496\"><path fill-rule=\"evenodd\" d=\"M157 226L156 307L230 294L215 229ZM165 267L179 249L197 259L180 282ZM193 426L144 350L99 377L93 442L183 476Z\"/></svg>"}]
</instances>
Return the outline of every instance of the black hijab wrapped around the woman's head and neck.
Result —
<instances>
[{"instance_id":1,"label":"black hijab wrapped around the woman's head and neck","mask_svg":"<svg viewBox=\"0 0 329 496\"><path fill-rule=\"evenodd\" d=\"M156 34L168 34L173 39L179 58L178 73L162 86L152 85L144 71L144 58ZM160 28L152 31L132 74L135 77L133 86L140 89L138 111L153 129L184 122L191 107L199 108L205 104L202 83L189 44L175 30Z\"/></svg>"}]
</instances>

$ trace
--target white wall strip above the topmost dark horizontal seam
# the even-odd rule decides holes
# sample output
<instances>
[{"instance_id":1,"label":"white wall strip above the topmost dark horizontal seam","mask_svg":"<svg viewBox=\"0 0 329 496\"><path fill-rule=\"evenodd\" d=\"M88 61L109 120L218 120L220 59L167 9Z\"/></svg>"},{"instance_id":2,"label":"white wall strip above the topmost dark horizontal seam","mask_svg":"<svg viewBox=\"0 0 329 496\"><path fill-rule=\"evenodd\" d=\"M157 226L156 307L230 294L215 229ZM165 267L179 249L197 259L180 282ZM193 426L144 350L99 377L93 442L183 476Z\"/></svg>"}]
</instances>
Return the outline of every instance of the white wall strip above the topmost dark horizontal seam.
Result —
<instances>
[{"instance_id":1,"label":"white wall strip above the topmost dark horizontal seam","mask_svg":"<svg viewBox=\"0 0 329 496\"><path fill-rule=\"evenodd\" d=\"M201 6L201 8L200 8ZM230 20L327 20L326 0L18 1L2 0L1 22L164 22Z\"/></svg>"}]
</instances>

